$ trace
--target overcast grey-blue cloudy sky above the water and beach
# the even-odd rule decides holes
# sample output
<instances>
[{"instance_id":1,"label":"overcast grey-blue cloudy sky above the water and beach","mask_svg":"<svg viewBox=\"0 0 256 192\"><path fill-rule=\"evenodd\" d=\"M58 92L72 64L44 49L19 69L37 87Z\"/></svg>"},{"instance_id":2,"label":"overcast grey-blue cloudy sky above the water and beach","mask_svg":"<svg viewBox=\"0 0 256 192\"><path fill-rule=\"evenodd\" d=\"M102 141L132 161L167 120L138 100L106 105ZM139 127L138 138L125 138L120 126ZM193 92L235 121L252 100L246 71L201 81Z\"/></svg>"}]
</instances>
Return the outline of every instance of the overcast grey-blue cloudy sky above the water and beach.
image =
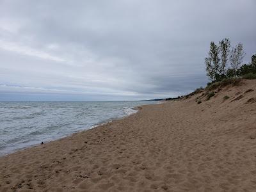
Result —
<instances>
[{"instance_id":1,"label":"overcast grey-blue cloudy sky above the water and beach","mask_svg":"<svg viewBox=\"0 0 256 192\"><path fill-rule=\"evenodd\" d=\"M256 53L255 0L0 0L0 100L141 100L205 86L211 41Z\"/></svg>"}]
</instances>

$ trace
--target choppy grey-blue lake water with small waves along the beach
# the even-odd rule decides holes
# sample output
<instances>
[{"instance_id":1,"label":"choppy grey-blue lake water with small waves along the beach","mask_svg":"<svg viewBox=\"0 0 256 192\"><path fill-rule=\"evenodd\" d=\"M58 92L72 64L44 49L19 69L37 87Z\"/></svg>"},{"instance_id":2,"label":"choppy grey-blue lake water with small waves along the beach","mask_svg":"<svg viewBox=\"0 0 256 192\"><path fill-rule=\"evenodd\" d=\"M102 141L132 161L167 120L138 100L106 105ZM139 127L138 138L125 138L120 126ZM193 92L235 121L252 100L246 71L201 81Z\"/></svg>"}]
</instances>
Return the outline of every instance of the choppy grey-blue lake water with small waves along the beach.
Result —
<instances>
[{"instance_id":1,"label":"choppy grey-blue lake water with small waves along the beach","mask_svg":"<svg viewBox=\"0 0 256 192\"><path fill-rule=\"evenodd\" d=\"M0 102L0 156L135 113L154 102Z\"/></svg>"}]
</instances>

